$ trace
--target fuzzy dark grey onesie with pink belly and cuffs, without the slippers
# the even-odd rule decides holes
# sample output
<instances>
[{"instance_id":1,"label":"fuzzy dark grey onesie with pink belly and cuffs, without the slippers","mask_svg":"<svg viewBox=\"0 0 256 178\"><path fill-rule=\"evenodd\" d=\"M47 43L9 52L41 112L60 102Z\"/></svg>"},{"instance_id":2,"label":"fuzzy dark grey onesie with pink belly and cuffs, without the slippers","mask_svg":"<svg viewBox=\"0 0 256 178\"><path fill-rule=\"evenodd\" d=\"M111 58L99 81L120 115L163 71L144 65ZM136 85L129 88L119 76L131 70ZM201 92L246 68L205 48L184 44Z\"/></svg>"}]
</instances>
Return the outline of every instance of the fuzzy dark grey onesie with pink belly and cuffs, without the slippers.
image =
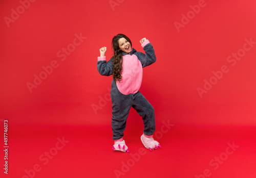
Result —
<instances>
[{"instance_id":1,"label":"fuzzy dark grey onesie with pink belly and cuffs, without the slippers","mask_svg":"<svg viewBox=\"0 0 256 178\"><path fill-rule=\"evenodd\" d=\"M131 107L142 117L145 135L153 135L156 129L154 108L139 91L142 82L142 68L156 61L155 50L148 40L141 45L145 54L137 52L134 48L129 55L123 52L122 79L120 83L113 79L111 84L113 140L123 137ZM106 62L105 56L98 57L97 69L101 75L109 76L113 73L113 59L112 57Z\"/></svg>"}]
</instances>

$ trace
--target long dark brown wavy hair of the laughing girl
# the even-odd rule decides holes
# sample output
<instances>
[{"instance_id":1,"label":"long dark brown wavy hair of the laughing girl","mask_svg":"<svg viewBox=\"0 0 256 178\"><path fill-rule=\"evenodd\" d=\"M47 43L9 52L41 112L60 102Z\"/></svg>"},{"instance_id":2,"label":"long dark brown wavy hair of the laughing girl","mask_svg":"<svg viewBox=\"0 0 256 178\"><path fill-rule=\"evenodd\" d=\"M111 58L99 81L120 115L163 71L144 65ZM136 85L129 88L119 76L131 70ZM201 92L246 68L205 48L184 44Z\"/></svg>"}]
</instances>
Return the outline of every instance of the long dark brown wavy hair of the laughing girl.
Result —
<instances>
[{"instance_id":1,"label":"long dark brown wavy hair of the laughing girl","mask_svg":"<svg viewBox=\"0 0 256 178\"><path fill-rule=\"evenodd\" d=\"M128 38L124 34L117 34L112 39L112 48L113 48L113 51L114 51L114 66L112 68L112 70L113 70L112 75L115 79L115 82L116 81L120 82L120 80L122 79L121 71L122 71L122 59L123 59L123 54L122 53L123 52L119 48L119 44L118 44L118 40L120 38L125 38L128 42L130 42L131 48L132 48L132 42L131 42L130 38Z\"/></svg>"}]
</instances>

